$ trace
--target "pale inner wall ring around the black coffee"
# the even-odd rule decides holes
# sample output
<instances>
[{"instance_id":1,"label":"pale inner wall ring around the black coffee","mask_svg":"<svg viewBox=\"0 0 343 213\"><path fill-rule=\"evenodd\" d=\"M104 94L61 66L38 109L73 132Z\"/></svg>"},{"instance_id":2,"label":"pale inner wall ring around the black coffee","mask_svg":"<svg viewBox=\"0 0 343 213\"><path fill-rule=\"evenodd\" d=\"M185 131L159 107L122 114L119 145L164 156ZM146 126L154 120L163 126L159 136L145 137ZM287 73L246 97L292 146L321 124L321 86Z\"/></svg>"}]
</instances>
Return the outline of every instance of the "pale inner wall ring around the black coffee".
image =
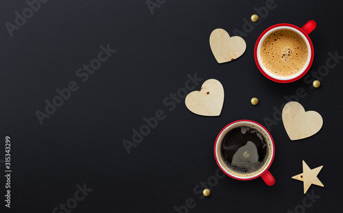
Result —
<instances>
[{"instance_id":1,"label":"pale inner wall ring around the black coffee","mask_svg":"<svg viewBox=\"0 0 343 213\"><path fill-rule=\"evenodd\" d=\"M270 155L270 160L267 160L267 162L265 163L265 165L263 166L263 169L261 171L259 171L258 173L255 173L254 175L247 175L246 177L244 176L238 176L238 175L235 175L233 173L231 173L227 166L224 165L223 162L221 162L222 160L220 160L222 157L220 156L221 153L220 153L220 145L222 145L222 138L224 138L224 136L226 135L226 133L228 131L230 131L230 129L233 129L235 127L240 127L242 124L248 124L249 126L252 126L253 128L255 129L259 129L259 131L263 132L263 135L265 136L265 139L267 139L267 142L270 143L270 145L268 145L268 147L270 147L270 152L271 152L271 155ZM270 135L268 134L267 131L265 131L265 129L263 129L263 127L261 127L260 125L257 125L257 123L252 123L252 122L249 122L249 121L239 121L239 122L236 122L236 123L233 123L231 125L229 125L228 127L226 127L220 134L220 136L218 136L217 138L217 142L215 144L215 157L217 158L217 162L218 164L220 165L220 167L228 174L230 174L231 176L237 178L237 179L252 179L252 178L255 178L255 177L258 177L259 175L261 175L262 173L264 173L268 167L269 167L269 164L272 163L272 159L274 158L274 145L272 144L272 138L270 138Z\"/></svg>"}]
</instances>

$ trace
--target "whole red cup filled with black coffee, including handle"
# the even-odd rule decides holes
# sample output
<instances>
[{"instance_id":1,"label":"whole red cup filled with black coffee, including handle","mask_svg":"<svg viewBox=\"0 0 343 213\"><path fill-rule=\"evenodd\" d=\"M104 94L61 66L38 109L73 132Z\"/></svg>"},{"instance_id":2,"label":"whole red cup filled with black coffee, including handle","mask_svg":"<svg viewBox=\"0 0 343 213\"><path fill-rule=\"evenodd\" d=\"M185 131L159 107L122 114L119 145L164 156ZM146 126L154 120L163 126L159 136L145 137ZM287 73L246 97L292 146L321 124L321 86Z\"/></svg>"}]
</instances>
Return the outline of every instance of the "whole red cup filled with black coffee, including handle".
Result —
<instances>
[{"instance_id":1,"label":"whole red cup filled with black coffee, including handle","mask_svg":"<svg viewBox=\"0 0 343 213\"><path fill-rule=\"evenodd\" d=\"M272 186L275 179L268 171L274 159L272 136L255 121L239 120L220 131L215 140L215 161L229 177L250 180L262 177Z\"/></svg>"}]
</instances>

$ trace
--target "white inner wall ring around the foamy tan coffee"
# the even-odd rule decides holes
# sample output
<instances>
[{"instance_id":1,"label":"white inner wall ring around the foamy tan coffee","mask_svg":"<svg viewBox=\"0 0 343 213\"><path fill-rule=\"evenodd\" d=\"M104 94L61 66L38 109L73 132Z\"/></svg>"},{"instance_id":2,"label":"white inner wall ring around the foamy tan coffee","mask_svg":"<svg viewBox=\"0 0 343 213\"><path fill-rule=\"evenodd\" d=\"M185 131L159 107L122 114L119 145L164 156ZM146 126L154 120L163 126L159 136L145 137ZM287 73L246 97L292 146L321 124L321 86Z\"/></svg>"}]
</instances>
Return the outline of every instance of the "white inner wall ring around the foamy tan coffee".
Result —
<instances>
[{"instance_id":1,"label":"white inner wall ring around the foamy tan coffee","mask_svg":"<svg viewBox=\"0 0 343 213\"><path fill-rule=\"evenodd\" d=\"M276 30L279 30L279 29L290 29L294 32L296 32L299 36L301 36L303 38L303 40L305 40L306 42L306 46L307 46L307 51L308 51L308 55L307 55L307 62L305 64L305 66L303 67L303 69L296 73L295 75L291 75L291 76L286 76L286 77L281 77L281 76L277 76L277 75L274 75L272 73L270 73L268 71L268 69L266 69L262 62L261 62L261 56L260 56L260 50L261 50L261 46L262 46L262 42L263 40L269 36L270 34L272 34L272 32L275 32ZM288 27L288 26L281 26L281 27L275 27L273 29L270 29L270 31L268 31L266 34L264 34L261 38L261 40L259 40L259 45L257 46L257 60L259 61L259 66L261 66L262 70L265 72L265 74L269 75L270 77L274 78L274 79L279 79L279 80L290 80L290 79L294 79L296 77L298 77L299 75L303 74L307 68L307 66L309 66L309 62L311 61L311 46L309 45L309 40L307 40L306 36L300 32L298 29L294 28L294 27Z\"/></svg>"}]
</instances>

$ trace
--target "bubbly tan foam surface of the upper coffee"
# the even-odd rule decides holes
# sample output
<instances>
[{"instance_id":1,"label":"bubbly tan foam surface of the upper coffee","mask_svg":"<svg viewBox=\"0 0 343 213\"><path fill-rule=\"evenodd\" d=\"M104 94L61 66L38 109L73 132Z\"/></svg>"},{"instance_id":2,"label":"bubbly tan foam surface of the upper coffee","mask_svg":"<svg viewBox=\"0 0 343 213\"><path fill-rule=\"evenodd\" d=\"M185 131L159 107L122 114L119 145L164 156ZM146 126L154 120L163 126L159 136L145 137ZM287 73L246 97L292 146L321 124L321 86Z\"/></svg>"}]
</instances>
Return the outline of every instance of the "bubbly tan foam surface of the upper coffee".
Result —
<instances>
[{"instance_id":1,"label":"bubbly tan foam surface of the upper coffee","mask_svg":"<svg viewBox=\"0 0 343 213\"><path fill-rule=\"evenodd\" d=\"M279 77L289 77L300 72L309 51L305 40L291 29L279 29L262 41L260 60L265 69Z\"/></svg>"}]
</instances>

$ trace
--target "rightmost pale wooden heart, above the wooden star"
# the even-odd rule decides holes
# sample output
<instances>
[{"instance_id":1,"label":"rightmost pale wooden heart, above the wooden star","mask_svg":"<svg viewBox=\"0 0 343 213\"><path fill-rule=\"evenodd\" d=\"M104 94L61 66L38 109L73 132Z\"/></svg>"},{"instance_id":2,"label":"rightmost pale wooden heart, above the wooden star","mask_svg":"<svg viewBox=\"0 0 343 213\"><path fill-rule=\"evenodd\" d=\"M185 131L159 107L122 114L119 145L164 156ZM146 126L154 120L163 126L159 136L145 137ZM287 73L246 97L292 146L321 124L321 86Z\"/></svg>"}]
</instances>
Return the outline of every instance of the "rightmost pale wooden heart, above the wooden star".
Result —
<instances>
[{"instance_id":1,"label":"rightmost pale wooden heart, above the wooden star","mask_svg":"<svg viewBox=\"0 0 343 213\"><path fill-rule=\"evenodd\" d=\"M288 102L282 110L282 121L291 140L313 136L322 128L322 116L315 111L307 111L296 102Z\"/></svg>"}]
</instances>

